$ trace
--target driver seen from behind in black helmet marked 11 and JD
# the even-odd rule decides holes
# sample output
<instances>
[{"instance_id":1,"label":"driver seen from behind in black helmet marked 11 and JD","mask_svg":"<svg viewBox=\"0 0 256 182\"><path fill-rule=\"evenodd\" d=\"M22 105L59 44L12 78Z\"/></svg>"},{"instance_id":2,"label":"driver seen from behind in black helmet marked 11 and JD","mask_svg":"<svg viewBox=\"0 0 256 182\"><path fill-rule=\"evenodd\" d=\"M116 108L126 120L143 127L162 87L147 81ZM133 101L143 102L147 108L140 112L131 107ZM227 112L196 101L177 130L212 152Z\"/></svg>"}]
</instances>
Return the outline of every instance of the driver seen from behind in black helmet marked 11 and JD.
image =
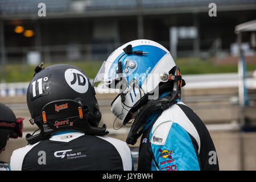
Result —
<instances>
[{"instance_id":1,"label":"driver seen from behind in black helmet marked 11 and JD","mask_svg":"<svg viewBox=\"0 0 256 182\"><path fill-rule=\"evenodd\" d=\"M129 147L106 137L95 91L85 73L73 65L42 69L28 85L30 122L39 134L13 152L11 170L133 170Z\"/></svg>"}]
</instances>

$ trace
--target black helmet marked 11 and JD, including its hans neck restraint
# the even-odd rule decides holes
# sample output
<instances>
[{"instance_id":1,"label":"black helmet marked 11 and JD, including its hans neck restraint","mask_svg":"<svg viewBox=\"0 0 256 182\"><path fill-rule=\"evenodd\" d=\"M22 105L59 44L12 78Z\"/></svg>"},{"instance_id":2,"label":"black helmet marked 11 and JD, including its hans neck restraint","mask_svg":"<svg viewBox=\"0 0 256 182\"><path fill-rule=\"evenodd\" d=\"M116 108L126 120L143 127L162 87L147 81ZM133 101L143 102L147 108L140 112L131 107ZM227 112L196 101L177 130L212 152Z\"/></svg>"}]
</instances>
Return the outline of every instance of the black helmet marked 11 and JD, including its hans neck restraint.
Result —
<instances>
[{"instance_id":1,"label":"black helmet marked 11 and JD, including its hans neck restraint","mask_svg":"<svg viewBox=\"0 0 256 182\"><path fill-rule=\"evenodd\" d=\"M59 130L105 134L105 125L98 127L101 112L95 94L90 78L74 65L55 64L40 69L27 89L30 122L40 128L39 139L49 138Z\"/></svg>"}]
</instances>

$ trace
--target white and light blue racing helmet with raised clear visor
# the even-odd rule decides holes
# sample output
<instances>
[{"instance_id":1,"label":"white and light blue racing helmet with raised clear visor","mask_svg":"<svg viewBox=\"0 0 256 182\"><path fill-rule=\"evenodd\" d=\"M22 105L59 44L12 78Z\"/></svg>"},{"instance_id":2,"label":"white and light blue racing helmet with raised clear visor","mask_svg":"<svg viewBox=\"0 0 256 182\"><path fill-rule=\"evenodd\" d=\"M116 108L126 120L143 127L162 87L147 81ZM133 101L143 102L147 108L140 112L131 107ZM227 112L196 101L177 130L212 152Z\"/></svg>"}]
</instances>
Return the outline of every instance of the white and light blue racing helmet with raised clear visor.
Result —
<instances>
[{"instance_id":1,"label":"white and light blue racing helmet with raised clear visor","mask_svg":"<svg viewBox=\"0 0 256 182\"><path fill-rule=\"evenodd\" d=\"M180 88L179 76L179 68L166 48L152 40L140 39L115 49L93 83L102 82L98 87L119 90L111 110L126 124L143 104L159 97L161 82L176 81ZM175 86L171 89L177 90Z\"/></svg>"}]
</instances>

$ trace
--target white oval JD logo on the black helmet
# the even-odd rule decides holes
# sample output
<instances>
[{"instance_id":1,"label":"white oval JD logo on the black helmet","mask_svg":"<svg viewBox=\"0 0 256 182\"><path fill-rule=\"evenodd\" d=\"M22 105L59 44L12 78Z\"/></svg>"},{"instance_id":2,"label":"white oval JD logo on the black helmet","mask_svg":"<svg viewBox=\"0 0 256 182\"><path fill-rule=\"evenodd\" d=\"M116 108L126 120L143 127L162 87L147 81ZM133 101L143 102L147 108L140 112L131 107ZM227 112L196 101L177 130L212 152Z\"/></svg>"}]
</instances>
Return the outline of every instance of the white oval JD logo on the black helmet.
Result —
<instances>
[{"instance_id":1,"label":"white oval JD logo on the black helmet","mask_svg":"<svg viewBox=\"0 0 256 182\"><path fill-rule=\"evenodd\" d=\"M65 80L76 92L85 93L88 90L87 78L77 69L67 69L65 71Z\"/></svg>"}]
</instances>

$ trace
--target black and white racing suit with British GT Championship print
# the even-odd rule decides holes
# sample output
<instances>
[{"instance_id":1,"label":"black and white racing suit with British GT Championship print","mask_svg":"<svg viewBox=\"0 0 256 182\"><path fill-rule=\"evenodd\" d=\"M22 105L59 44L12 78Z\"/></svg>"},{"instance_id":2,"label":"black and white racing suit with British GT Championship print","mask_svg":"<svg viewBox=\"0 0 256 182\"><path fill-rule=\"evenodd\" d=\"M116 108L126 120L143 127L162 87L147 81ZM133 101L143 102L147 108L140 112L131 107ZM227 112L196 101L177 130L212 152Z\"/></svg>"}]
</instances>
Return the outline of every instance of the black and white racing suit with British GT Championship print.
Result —
<instances>
[{"instance_id":1,"label":"black and white racing suit with British GT Championship print","mask_svg":"<svg viewBox=\"0 0 256 182\"><path fill-rule=\"evenodd\" d=\"M132 170L130 148L121 140L60 132L13 152L11 170Z\"/></svg>"}]
</instances>

